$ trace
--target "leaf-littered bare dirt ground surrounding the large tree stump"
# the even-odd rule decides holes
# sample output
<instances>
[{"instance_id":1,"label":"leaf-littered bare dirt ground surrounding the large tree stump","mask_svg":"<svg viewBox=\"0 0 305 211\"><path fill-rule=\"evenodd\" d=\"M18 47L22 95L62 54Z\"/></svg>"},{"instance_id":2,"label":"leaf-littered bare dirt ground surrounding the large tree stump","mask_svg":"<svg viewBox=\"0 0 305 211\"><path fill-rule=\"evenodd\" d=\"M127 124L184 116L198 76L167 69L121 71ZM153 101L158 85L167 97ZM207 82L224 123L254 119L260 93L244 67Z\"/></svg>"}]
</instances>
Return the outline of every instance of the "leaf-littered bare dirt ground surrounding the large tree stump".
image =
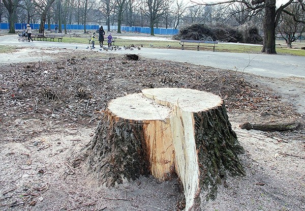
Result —
<instances>
[{"instance_id":1,"label":"leaf-littered bare dirt ground surrounding the large tree stump","mask_svg":"<svg viewBox=\"0 0 305 211\"><path fill-rule=\"evenodd\" d=\"M285 96L247 74L96 55L67 50L52 62L0 66L0 210L178 210L176 179L140 177L100 187L82 157L107 102L149 87L194 88L225 100L246 150L240 160L247 175L228 176L217 199L203 210L305 210L304 116L283 101ZM239 127L289 121L299 128L262 132Z\"/></svg>"}]
</instances>

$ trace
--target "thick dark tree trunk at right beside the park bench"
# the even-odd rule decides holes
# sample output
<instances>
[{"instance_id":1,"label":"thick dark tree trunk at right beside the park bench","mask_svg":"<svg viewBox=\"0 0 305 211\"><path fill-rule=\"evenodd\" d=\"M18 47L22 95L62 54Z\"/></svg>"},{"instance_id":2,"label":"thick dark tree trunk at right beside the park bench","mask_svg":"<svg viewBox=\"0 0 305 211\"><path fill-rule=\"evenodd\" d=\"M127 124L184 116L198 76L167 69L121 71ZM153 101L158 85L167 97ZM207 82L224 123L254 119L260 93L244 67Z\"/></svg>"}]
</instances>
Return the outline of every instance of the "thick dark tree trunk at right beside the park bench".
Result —
<instances>
[{"instance_id":1,"label":"thick dark tree trunk at right beside the park bench","mask_svg":"<svg viewBox=\"0 0 305 211\"><path fill-rule=\"evenodd\" d=\"M276 54L276 0L265 1L263 53Z\"/></svg>"}]
</instances>

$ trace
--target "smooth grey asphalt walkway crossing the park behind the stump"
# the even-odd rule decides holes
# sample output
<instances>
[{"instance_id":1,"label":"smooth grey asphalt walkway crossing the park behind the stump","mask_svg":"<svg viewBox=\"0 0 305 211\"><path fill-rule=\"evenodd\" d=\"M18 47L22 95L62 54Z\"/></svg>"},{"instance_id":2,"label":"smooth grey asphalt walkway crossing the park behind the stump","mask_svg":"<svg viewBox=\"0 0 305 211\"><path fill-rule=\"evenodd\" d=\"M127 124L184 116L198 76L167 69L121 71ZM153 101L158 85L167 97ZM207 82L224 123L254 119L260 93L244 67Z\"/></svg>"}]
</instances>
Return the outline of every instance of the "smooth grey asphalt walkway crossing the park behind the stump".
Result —
<instances>
[{"instance_id":1,"label":"smooth grey asphalt walkway crossing the park behind the stump","mask_svg":"<svg viewBox=\"0 0 305 211\"><path fill-rule=\"evenodd\" d=\"M85 44L34 41L18 42L17 35L1 36L0 44L31 46L32 48L56 48L89 50ZM221 43L220 43L221 44ZM96 45L98 46L98 45ZM77 47L77 49L76 49ZM95 51L99 51L96 48ZM141 48L138 50L99 51L101 53L135 53L147 58L164 59L175 62L186 62L214 68L236 70L271 78L305 77L305 57L292 55L267 55L248 53L228 53L179 49ZM6 61L0 59L1 63Z\"/></svg>"}]
</instances>

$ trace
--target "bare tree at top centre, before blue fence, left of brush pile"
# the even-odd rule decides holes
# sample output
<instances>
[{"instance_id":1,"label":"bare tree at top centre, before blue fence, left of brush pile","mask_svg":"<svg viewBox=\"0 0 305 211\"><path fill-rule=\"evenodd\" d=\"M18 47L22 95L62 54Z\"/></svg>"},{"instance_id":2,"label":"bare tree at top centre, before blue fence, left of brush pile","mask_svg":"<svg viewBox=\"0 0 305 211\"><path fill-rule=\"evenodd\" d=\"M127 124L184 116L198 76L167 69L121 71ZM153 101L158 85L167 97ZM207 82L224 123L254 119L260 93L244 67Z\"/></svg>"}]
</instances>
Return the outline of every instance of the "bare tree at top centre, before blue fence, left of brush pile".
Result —
<instances>
[{"instance_id":1,"label":"bare tree at top centre, before blue fence, left of brush pile","mask_svg":"<svg viewBox=\"0 0 305 211\"><path fill-rule=\"evenodd\" d=\"M143 10L145 16L149 19L150 35L155 35L154 25L168 11L170 1L166 0L143 0L147 10Z\"/></svg>"}]
</instances>

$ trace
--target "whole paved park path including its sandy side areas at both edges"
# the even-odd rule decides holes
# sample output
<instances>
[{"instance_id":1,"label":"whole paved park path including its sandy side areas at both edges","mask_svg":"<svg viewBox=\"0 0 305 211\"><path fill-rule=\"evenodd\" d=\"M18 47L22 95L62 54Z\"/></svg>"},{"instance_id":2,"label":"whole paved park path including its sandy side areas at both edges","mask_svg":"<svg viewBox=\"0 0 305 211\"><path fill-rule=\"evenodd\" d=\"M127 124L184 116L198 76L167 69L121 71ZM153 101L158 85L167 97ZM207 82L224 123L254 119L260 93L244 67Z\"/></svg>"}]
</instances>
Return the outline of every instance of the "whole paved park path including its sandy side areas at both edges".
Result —
<instances>
[{"instance_id":1,"label":"whole paved park path including its sandy side areas at both edges","mask_svg":"<svg viewBox=\"0 0 305 211\"><path fill-rule=\"evenodd\" d=\"M88 45L70 44L61 42L18 42L17 35L0 36L0 45L27 46L30 48L20 49L19 52L2 54L0 64L17 62L45 61L52 59L52 53L62 52L66 49L88 51ZM221 43L220 43L221 45ZM97 45L98 46L98 45ZM76 48L77 47L77 48ZM28 57L29 51L46 51L48 56L41 53ZM305 57L292 55L267 55L248 53L228 53L179 49L141 48L138 50L100 51L99 53L135 53L143 57L164 59L174 62L185 62L196 65L209 66L239 72L251 73L260 76L259 82L283 95L283 100L296 106L299 113L305 114ZM33 55L33 54L32 54ZM55 55L54 55L55 57Z\"/></svg>"}]
</instances>

